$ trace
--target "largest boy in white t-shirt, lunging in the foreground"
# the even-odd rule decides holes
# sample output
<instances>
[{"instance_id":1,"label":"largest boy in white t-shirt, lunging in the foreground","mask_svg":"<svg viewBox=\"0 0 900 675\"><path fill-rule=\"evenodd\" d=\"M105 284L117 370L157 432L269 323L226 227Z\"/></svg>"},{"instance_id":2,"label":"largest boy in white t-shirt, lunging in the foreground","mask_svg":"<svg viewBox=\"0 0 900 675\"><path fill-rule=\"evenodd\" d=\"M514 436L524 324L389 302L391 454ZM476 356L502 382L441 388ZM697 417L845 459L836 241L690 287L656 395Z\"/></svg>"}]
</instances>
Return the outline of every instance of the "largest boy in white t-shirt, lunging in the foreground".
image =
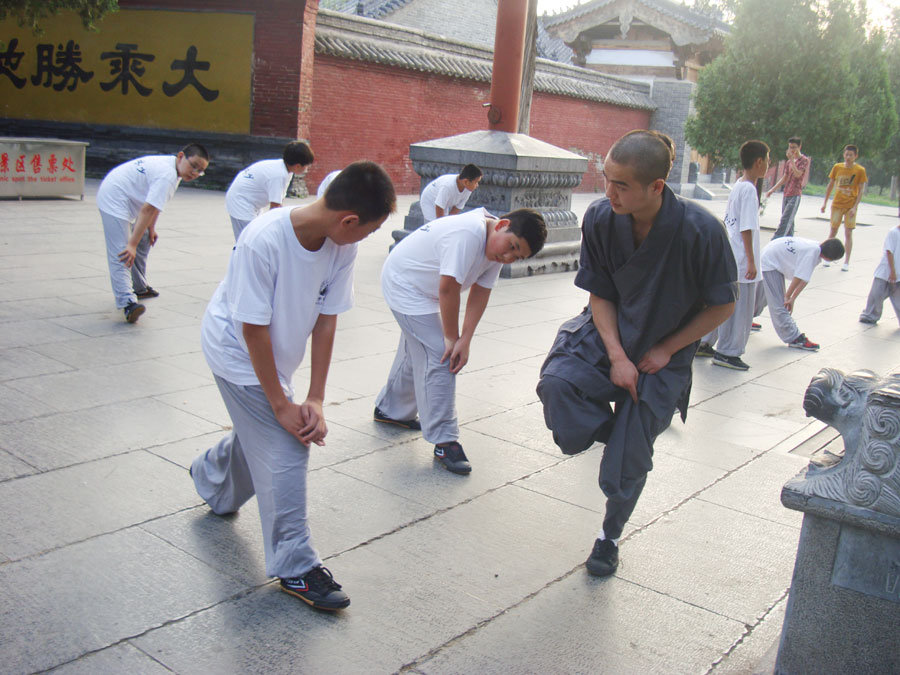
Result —
<instances>
[{"instance_id":1,"label":"largest boy in white t-shirt, lunging in the foreground","mask_svg":"<svg viewBox=\"0 0 900 675\"><path fill-rule=\"evenodd\" d=\"M194 459L197 493L219 515L255 494L266 572L319 609L341 609L350 599L310 538L309 446L325 444L325 380L336 315L353 304L356 244L395 207L384 170L356 162L324 199L259 216L238 239L203 317L203 354L233 428ZM309 391L298 405L291 377L310 336Z\"/></svg>"}]
</instances>

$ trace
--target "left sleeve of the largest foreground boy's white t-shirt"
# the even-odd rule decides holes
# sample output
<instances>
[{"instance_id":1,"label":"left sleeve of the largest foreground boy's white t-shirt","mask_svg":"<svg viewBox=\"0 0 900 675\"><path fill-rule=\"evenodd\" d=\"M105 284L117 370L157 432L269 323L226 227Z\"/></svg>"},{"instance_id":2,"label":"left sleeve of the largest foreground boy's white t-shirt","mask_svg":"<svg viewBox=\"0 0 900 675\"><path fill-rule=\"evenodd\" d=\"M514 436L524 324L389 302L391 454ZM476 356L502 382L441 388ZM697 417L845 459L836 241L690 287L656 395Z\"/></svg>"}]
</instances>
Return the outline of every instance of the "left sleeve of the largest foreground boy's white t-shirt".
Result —
<instances>
[{"instance_id":1,"label":"left sleeve of the largest foreground boy's white t-shirt","mask_svg":"<svg viewBox=\"0 0 900 675\"><path fill-rule=\"evenodd\" d=\"M241 323L268 326L272 323L275 272L271 263L249 246L238 245L232 253L228 274L228 310Z\"/></svg>"}]
</instances>

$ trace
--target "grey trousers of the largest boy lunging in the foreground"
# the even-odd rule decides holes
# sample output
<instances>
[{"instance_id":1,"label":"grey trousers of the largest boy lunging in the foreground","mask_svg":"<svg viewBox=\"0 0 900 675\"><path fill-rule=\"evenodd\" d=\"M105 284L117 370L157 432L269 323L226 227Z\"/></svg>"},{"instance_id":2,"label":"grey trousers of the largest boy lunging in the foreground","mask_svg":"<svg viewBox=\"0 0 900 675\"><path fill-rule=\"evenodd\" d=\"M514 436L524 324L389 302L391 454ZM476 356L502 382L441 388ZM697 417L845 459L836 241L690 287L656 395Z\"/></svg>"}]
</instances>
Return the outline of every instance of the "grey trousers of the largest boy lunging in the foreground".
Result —
<instances>
[{"instance_id":1,"label":"grey trousers of the largest boy lunging in the foreground","mask_svg":"<svg viewBox=\"0 0 900 675\"><path fill-rule=\"evenodd\" d=\"M194 459L197 493L219 515L237 511L256 494L266 574L302 577L322 564L306 516L309 448L278 423L262 387L215 379L234 428Z\"/></svg>"}]
</instances>

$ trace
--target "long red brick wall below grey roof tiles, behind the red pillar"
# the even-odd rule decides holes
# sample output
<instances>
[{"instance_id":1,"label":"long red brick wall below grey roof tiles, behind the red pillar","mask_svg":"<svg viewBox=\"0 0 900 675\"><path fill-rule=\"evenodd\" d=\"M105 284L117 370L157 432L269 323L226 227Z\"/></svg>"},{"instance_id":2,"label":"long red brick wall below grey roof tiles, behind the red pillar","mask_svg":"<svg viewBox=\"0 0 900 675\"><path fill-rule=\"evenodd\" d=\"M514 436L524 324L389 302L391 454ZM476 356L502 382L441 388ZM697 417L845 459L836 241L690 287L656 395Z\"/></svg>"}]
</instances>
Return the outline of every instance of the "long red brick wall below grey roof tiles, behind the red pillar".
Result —
<instances>
[{"instance_id":1,"label":"long red brick wall below grey roof tiles, behind the red pillar","mask_svg":"<svg viewBox=\"0 0 900 675\"><path fill-rule=\"evenodd\" d=\"M310 143L316 162L307 185L357 159L382 164L401 194L419 191L409 145L487 128L488 83L317 55ZM646 128L650 113L538 93L531 135L591 159L578 191L602 188L596 159L626 131Z\"/></svg>"}]
</instances>

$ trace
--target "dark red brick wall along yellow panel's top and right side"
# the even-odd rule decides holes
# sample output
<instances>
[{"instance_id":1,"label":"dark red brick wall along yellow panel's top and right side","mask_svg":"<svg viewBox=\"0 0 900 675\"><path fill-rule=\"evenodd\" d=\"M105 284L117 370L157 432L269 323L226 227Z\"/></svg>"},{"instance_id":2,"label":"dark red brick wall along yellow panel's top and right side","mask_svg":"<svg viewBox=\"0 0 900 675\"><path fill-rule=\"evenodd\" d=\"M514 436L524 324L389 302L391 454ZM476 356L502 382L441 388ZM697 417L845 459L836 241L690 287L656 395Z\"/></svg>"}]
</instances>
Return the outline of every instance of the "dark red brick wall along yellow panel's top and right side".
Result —
<instances>
[{"instance_id":1,"label":"dark red brick wall along yellow panel's top and right side","mask_svg":"<svg viewBox=\"0 0 900 675\"><path fill-rule=\"evenodd\" d=\"M254 14L250 134L309 138L310 90L301 80L312 79L319 0L119 0L119 6Z\"/></svg>"}]
</instances>

